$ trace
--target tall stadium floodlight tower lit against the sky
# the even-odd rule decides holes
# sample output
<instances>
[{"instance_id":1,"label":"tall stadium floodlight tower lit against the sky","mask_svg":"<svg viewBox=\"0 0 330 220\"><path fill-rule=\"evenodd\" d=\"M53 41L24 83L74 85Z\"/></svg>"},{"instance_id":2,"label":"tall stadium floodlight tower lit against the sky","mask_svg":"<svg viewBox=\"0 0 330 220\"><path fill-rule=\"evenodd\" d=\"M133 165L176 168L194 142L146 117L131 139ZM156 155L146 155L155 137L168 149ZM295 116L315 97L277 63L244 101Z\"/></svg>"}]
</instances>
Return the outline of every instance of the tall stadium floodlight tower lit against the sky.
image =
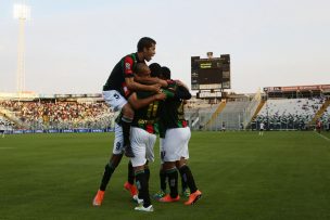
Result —
<instances>
[{"instance_id":1,"label":"tall stadium floodlight tower lit against the sky","mask_svg":"<svg viewBox=\"0 0 330 220\"><path fill-rule=\"evenodd\" d=\"M25 22L30 20L30 7L14 4L14 18L20 23L16 91L22 93L25 90Z\"/></svg>"}]
</instances>

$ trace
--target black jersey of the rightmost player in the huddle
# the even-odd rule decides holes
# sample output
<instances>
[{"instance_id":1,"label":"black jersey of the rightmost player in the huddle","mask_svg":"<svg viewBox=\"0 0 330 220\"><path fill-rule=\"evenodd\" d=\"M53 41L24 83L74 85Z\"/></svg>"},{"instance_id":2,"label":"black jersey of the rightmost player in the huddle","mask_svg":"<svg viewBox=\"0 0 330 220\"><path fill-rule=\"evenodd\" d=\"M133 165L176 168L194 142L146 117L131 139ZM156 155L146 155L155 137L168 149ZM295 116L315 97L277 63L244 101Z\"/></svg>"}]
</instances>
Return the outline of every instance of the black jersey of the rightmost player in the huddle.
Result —
<instances>
[{"instance_id":1,"label":"black jersey of the rightmost player in the huddle","mask_svg":"<svg viewBox=\"0 0 330 220\"><path fill-rule=\"evenodd\" d=\"M185 119L183 100L191 99L191 94L189 90L175 81L168 85L168 89L174 91L174 98L166 99L161 107L162 130L185 128L188 124Z\"/></svg>"}]
</instances>

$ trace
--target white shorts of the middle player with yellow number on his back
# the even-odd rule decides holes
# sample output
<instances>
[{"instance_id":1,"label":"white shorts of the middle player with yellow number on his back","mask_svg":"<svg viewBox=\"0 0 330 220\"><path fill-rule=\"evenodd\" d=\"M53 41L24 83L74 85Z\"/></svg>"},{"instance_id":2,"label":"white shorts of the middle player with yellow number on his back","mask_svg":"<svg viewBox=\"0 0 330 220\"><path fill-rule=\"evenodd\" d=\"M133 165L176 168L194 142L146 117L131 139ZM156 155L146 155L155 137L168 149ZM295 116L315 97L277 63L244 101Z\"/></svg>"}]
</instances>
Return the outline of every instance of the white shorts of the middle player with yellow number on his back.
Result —
<instances>
[{"instance_id":1,"label":"white shorts of the middle player with yellow number on his back","mask_svg":"<svg viewBox=\"0 0 330 220\"><path fill-rule=\"evenodd\" d=\"M130 158L132 167L143 166L147 160L154 161L153 147L156 135L141 128L131 127L130 145L135 157Z\"/></svg>"}]
</instances>

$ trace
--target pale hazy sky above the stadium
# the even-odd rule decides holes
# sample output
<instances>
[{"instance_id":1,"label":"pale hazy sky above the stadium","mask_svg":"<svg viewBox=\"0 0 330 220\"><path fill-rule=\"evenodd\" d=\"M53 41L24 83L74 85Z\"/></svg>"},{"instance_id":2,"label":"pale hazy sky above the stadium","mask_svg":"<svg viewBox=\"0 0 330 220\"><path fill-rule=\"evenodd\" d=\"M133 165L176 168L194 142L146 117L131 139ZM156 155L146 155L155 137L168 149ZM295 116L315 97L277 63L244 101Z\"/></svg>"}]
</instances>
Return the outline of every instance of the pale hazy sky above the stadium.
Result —
<instances>
[{"instance_id":1,"label":"pale hazy sky above the stadium","mask_svg":"<svg viewBox=\"0 0 330 220\"><path fill-rule=\"evenodd\" d=\"M0 92L15 92L18 22L0 0ZM330 83L329 0L26 0L25 88L100 93L148 36L152 62L190 86L191 56L230 54L231 90Z\"/></svg>"}]
</instances>

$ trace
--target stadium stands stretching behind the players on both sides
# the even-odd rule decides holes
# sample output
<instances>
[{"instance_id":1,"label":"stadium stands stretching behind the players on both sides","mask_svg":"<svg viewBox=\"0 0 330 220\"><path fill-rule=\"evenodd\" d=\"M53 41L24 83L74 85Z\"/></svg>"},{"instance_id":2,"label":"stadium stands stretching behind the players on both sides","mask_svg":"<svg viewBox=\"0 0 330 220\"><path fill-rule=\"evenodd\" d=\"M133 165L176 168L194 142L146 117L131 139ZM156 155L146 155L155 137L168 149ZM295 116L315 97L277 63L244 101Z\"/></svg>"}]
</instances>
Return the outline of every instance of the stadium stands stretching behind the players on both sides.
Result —
<instances>
[{"instance_id":1,"label":"stadium stands stretching behind the players on both sides","mask_svg":"<svg viewBox=\"0 0 330 220\"><path fill-rule=\"evenodd\" d=\"M5 115L1 121L9 121L14 130L114 127L114 112L101 94L23 95L0 93L0 115ZM329 95L330 85L322 85L271 87L253 94L232 92L221 99L192 98L185 105L186 119L192 130L254 130L261 122L270 130L304 130L314 129L318 120L329 129Z\"/></svg>"}]
</instances>

